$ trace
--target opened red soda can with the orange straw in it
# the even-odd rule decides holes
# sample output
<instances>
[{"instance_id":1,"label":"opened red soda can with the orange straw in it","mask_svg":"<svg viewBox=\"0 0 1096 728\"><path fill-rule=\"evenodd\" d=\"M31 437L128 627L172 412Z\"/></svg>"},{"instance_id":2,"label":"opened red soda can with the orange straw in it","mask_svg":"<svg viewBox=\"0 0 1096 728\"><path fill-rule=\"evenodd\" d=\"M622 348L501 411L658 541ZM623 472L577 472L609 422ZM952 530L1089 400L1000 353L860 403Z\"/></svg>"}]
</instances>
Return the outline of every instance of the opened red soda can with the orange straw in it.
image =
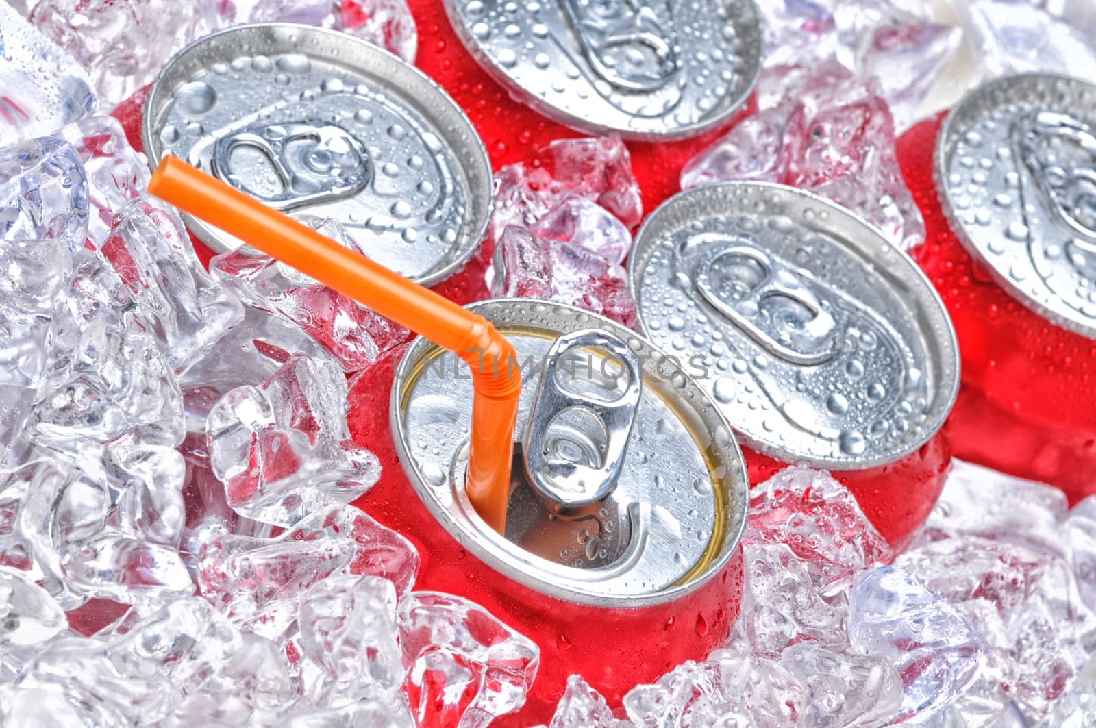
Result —
<instances>
[{"instance_id":1,"label":"opened red soda can with the orange straw in it","mask_svg":"<svg viewBox=\"0 0 1096 728\"><path fill-rule=\"evenodd\" d=\"M362 505L419 546L416 589L467 596L539 645L528 702L505 725L547 723L574 673L619 706L730 635L742 455L716 403L633 331L532 298L469 308L513 343L517 360L498 365L523 374L505 535L465 494L468 365L423 339L391 388L407 479Z\"/></svg>"}]
</instances>

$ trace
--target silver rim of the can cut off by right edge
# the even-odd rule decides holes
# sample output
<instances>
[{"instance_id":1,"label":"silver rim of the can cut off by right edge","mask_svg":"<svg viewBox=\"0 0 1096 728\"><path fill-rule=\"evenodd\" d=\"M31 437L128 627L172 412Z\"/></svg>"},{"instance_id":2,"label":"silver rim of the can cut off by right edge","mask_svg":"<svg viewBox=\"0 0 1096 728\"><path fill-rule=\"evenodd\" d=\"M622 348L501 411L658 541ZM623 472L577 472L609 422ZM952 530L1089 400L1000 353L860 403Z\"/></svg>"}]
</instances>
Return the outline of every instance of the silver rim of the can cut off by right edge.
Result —
<instances>
[{"instance_id":1,"label":"silver rim of the can cut off by right edge","mask_svg":"<svg viewBox=\"0 0 1096 728\"><path fill-rule=\"evenodd\" d=\"M961 136L966 129L964 125L972 122L978 115L989 111L996 104L990 104L990 99L1001 92L1001 87L1009 87L1016 83L1068 83L1071 86L1086 87L1096 94L1096 84L1083 79L1065 76L1064 73L1031 72L1013 73L986 81L974 89L967 91L959 101L951 106L948 115L940 124L940 130L936 135L936 146L933 155L933 182L936 184L936 196L944 211L944 217L948 221L951 232L959 239L963 249L975 261L983 261L983 266L1001 288L1008 293L1013 300L1019 302L1025 308L1038 315L1046 321L1060 326L1061 328L1078 333L1088 339L1096 339L1096 320L1091 326L1085 326L1076 319L1053 310L1041 300L1028 295L1024 289L1009 281L1008 276L997 270L996 265L989 263L979 250L974 239L967 231L967 226L959 219L959 211L955 206L950 190L947 184L947 164L951 157L949 147ZM1015 89L1013 90L1015 91Z\"/></svg>"}]
</instances>

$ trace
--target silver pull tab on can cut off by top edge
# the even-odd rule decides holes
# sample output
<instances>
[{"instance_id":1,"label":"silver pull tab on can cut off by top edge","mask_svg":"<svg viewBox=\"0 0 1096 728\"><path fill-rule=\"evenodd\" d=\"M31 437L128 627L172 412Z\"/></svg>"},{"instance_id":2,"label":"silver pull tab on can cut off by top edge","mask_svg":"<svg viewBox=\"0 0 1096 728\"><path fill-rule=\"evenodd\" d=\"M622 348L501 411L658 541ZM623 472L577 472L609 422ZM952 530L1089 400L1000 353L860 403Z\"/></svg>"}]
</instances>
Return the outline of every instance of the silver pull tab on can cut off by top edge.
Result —
<instances>
[{"instance_id":1,"label":"silver pull tab on can cut off by top edge","mask_svg":"<svg viewBox=\"0 0 1096 728\"><path fill-rule=\"evenodd\" d=\"M677 53L644 0L561 0L590 66L627 91L655 91L677 72Z\"/></svg>"}]
</instances>

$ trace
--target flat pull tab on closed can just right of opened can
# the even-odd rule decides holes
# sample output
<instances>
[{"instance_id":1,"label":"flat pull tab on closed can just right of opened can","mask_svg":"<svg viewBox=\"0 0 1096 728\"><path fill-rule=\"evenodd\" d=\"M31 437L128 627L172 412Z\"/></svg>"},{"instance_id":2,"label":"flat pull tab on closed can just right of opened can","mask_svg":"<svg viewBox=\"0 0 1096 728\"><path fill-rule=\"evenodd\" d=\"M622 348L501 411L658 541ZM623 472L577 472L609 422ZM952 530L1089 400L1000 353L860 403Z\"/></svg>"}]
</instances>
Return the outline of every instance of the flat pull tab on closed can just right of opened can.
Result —
<instances>
[{"instance_id":1,"label":"flat pull tab on closed can just right of opened can","mask_svg":"<svg viewBox=\"0 0 1096 728\"><path fill-rule=\"evenodd\" d=\"M705 300L767 352L799 365L837 354L837 321L800 273L749 243L712 248L696 266Z\"/></svg>"}]
</instances>

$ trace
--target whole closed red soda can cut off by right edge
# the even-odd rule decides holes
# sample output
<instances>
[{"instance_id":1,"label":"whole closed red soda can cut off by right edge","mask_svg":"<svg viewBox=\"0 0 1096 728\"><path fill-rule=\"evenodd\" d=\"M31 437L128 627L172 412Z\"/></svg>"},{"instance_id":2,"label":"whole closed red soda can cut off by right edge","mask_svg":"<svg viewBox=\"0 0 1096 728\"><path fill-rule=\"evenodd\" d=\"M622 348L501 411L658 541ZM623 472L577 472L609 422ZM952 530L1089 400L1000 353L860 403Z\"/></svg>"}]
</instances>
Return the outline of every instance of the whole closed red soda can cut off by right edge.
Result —
<instances>
[{"instance_id":1,"label":"whole closed red soda can cut off by right edge","mask_svg":"<svg viewBox=\"0 0 1096 728\"><path fill-rule=\"evenodd\" d=\"M1023 75L898 147L927 231L914 255L959 335L956 455L1072 501L1096 492L1094 120L1096 87Z\"/></svg>"}]
</instances>

